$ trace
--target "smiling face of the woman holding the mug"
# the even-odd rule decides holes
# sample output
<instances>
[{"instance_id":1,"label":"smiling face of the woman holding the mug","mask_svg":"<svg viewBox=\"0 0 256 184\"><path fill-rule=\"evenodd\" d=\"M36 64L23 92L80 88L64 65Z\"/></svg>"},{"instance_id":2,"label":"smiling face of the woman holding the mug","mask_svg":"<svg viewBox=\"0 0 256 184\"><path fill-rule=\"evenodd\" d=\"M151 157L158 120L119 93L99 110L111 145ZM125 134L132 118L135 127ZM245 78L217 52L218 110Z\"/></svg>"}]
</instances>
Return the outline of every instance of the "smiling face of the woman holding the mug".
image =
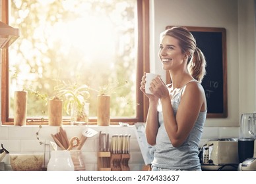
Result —
<instances>
[{"instance_id":1,"label":"smiling face of the woman holding the mug","mask_svg":"<svg viewBox=\"0 0 256 184\"><path fill-rule=\"evenodd\" d=\"M178 39L164 35L160 39L159 58L162 61L164 70L173 70L184 64L185 54L179 47Z\"/></svg>"}]
</instances>

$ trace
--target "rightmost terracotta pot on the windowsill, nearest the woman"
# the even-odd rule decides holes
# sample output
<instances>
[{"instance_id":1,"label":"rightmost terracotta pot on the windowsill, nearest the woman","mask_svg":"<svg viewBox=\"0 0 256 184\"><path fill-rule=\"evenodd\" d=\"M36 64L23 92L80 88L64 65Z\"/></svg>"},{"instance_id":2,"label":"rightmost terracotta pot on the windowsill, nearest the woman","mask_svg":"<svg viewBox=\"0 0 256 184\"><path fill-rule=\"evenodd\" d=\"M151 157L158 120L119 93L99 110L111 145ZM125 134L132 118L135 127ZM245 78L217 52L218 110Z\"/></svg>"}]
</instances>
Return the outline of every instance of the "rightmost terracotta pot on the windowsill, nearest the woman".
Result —
<instances>
[{"instance_id":1,"label":"rightmost terracotta pot on the windowsill, nearest the woman","mask_svg":"<svg viewBox=\"0 0 256 184\"><path fill-rule=\"evenodd\" d=\"M110 125L110 96L98 95L97 117L98 126Z\"/></svg>"}]
</instances>

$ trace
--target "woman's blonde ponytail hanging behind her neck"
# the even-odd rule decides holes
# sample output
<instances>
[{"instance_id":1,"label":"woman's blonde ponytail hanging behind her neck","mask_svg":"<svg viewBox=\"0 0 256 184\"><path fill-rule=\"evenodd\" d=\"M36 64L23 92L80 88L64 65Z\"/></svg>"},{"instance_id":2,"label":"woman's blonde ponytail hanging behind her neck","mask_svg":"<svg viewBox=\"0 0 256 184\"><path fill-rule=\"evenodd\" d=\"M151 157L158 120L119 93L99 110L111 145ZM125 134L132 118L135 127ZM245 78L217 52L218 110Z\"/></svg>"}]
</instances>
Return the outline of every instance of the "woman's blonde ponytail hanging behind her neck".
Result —
<instances>
[{"instance_id":1,"label":"woman's blonde ponytail hanging behind her neck","mask_svg":"<svg viewBox=\"0 0 256 184\"><path fill-rule=\"evenodd\" d=\"M195 51L193 56L191 57L190 62L188 62L188 70L191 76L195 78L195 80L201 83L206 74L205 67L207 66L207 62L205 60L205 55L203 55L202 51L195 47Z\"/></svg>"}]
</instances>

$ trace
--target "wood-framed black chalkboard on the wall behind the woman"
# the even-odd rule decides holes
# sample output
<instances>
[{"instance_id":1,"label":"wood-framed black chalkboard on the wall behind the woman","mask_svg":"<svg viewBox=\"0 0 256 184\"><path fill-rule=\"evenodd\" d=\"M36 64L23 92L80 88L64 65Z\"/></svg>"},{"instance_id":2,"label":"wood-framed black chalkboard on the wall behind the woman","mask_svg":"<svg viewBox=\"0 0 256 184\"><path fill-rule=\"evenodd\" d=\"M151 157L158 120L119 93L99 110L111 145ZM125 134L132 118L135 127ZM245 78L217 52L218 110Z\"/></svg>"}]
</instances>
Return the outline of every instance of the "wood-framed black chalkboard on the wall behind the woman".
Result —
<instances>
[{"instance_id":1,"label":"wood-framed black chalkboard on the wall behind the woman","mask_svg":"<svg viewBox=\"0 0 256 184\"><path fill-rule=\"evenodd\" d=\"M166 29L171 27L167 26ZM186 28L195 37L197 47L201 49L207 60L207 75L202 81L207 97L207 118L226 118L228 116L226 30L224 28ZM169 76L168 72L166 76Z\"/></svg>"}]
</instances>

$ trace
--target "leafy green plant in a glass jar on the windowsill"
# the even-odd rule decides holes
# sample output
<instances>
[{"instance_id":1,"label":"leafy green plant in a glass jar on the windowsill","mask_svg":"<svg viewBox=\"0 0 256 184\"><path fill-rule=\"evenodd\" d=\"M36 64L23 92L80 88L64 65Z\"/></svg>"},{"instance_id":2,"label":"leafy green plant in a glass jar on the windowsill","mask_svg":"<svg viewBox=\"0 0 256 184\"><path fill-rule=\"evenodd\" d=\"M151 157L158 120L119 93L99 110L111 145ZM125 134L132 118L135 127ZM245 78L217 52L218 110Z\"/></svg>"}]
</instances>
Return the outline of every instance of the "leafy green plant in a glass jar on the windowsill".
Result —
<instances>
[{"instance_id":1,"label":"leafy green plant in a glass jar on the windowsill","mask_svg":"<svg viewBox=\"0 0 256 184\"><path fill-rule=\"evenodd\" d=\"M71 116L71 124L88 123L89 104L86 100L90 97L90 93L87 85L62 81L55 87L55 91L57 91L56 97L63 98L63 110Z\"/></svg>"}]
</instances>

